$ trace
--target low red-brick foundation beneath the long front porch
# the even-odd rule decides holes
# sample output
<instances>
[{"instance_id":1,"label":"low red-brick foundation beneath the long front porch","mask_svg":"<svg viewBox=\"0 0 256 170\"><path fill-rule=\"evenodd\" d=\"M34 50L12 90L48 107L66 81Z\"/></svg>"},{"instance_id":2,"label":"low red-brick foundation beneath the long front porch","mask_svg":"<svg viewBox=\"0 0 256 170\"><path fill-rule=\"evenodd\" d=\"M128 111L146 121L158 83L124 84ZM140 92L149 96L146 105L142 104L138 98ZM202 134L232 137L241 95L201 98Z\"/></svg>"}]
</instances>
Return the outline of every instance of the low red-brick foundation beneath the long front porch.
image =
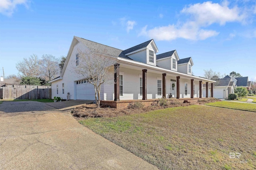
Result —
<instances>
[{"instance_id":1,"label":"low red-brick foundation beneath the long front porch","mask_svg":"<svg viewBox=\"0 0 256 170\"><path fill-rule=\"evenodd\" d=\"M210 99L210 98L182 98L182 99L167 99L167 100L175 100L175 101L182 101L182 103L184 103L184 101L187 101L187 103L193 103L193 104L198 104L198 100L199 99ZM110 107L110 108L116 108L116 109L126 109L127 106L130 103L134 103L134 102L140 102L142 103L145 107L150 106L153 102L158 101L158 99L148 99L148 100L121 100L121 101L100 101L100 104Z\"/></svg>"}]
</instances>

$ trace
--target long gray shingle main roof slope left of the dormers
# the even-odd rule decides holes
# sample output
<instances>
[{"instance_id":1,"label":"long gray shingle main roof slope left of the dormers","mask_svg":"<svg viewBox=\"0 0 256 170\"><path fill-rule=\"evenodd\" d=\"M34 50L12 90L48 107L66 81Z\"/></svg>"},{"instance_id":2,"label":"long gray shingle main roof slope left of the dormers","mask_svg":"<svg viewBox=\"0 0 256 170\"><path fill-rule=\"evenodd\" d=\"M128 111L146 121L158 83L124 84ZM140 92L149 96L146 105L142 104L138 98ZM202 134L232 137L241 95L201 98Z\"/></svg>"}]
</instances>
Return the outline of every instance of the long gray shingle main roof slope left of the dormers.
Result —
<instances>
[{"instance_id":1,"label":"long gray shingle main roof slope left of the dormers","mask_svg":"<svg viewBox=\"0 0 256 170\"><path fill-rule=\"evenodd\" d=\"M82 42L84 45L86 45L86 47L88 47L90 50L92 51L97 51L98 53L105 53L107 55L112 55L112 56L116 56L116 57L123 57L126 59L130 59L130 57L126 56L126 55L120 55L122 53L123 50L121 49L117 49L114 47L110 47L108 45L103 45L100 43L96 43L96 42L92 42L90 40L86 40L84 38L80 38L80 37L76 37L76 39L78 39L80 42Z\"/></svg>"}]
</instances>

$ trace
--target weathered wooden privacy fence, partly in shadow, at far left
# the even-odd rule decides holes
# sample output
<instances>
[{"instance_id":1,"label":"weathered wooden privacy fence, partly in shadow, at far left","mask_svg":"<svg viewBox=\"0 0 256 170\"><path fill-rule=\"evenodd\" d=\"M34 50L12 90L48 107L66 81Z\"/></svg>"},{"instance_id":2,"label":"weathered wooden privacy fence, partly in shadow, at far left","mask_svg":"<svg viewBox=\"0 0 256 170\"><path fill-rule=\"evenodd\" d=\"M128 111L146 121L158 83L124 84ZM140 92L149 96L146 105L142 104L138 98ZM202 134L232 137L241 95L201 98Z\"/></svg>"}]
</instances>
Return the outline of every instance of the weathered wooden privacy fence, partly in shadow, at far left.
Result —
<instances>
[{"instance_id":1,"label":"weathered wooden privacy fence, partly in shadow, at far left","mask_svg":"<svg viewBox=\"0 0 256 170\"><path fill-rule=\"evenodd\" d=\"M51 99L51 86L6 85L0 89L0 99Z\"/></svg>"}]
</instances>

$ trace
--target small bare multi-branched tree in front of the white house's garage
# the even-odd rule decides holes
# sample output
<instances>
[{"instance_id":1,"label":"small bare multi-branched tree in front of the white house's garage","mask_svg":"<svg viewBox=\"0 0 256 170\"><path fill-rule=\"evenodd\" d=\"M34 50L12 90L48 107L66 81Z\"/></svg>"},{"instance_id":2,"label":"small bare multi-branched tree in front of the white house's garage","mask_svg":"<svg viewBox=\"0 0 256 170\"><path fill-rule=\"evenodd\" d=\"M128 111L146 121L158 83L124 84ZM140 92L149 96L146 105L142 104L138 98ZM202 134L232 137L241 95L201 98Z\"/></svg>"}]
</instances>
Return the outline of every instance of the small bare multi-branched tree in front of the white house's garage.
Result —
<instances>
[{"instance_id":1,"label":"small bare multi-branched tree in front of the white house's garage","mask_svg":"<svg viewBox=\"0 0 256 170\"><path fill-rule=\"evenodd\" d=\"M103 83L113 82L114 63L117 58L106 55L106 49L101 53L96 51L78 50L75 71L80 78L85 78L94 85L96 105L100 107L100 87Z\"/></svg>"}]
</instances>

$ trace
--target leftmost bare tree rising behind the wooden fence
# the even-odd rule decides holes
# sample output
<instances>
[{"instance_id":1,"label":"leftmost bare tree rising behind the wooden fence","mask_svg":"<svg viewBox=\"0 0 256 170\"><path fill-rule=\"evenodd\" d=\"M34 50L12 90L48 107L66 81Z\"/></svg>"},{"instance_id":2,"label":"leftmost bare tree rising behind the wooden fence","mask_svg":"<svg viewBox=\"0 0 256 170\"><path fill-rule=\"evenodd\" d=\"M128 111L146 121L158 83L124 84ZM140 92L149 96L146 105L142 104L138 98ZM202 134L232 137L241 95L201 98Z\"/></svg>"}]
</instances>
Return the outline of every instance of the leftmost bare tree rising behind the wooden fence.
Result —
<instances>
[{"instance_id":1,"label":"leftmost bare tree rising behind the wooden fence","mask_svg":"<svg viewBox=\"0 0 256 170\"><path fill-rule=\"evenodd\" d=\"M30 55L30 57L23 58L22 61L16 64L16 69L21 73L23 77L38 77L40 75L41 60L38 59L36 54Z\"/></svg>"}]
</instances>

